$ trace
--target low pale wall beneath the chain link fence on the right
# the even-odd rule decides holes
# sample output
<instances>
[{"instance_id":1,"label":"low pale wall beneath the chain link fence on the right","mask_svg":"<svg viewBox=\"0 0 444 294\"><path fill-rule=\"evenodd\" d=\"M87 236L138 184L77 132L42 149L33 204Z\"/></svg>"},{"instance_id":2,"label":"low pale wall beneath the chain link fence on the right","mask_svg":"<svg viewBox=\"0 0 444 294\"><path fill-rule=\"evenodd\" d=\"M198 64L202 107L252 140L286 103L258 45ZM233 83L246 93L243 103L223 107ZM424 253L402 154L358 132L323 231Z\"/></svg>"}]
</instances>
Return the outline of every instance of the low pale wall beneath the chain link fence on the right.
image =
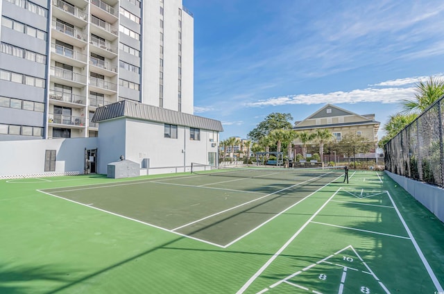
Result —
<instances>
[{"instance_id":1,"label":"low pale wall beneath the chain link fence on the right","mask_svg":"<svg viewBox=\"0 0 444 294\"><path fill-rule=\"evenodd\" d=\"M389 171L386 174L397 182L402 188L409 192L429 211L444 222L444 189L424 182L411 180L402 175L397 175Z\"/></svg>"}]
</instances>

